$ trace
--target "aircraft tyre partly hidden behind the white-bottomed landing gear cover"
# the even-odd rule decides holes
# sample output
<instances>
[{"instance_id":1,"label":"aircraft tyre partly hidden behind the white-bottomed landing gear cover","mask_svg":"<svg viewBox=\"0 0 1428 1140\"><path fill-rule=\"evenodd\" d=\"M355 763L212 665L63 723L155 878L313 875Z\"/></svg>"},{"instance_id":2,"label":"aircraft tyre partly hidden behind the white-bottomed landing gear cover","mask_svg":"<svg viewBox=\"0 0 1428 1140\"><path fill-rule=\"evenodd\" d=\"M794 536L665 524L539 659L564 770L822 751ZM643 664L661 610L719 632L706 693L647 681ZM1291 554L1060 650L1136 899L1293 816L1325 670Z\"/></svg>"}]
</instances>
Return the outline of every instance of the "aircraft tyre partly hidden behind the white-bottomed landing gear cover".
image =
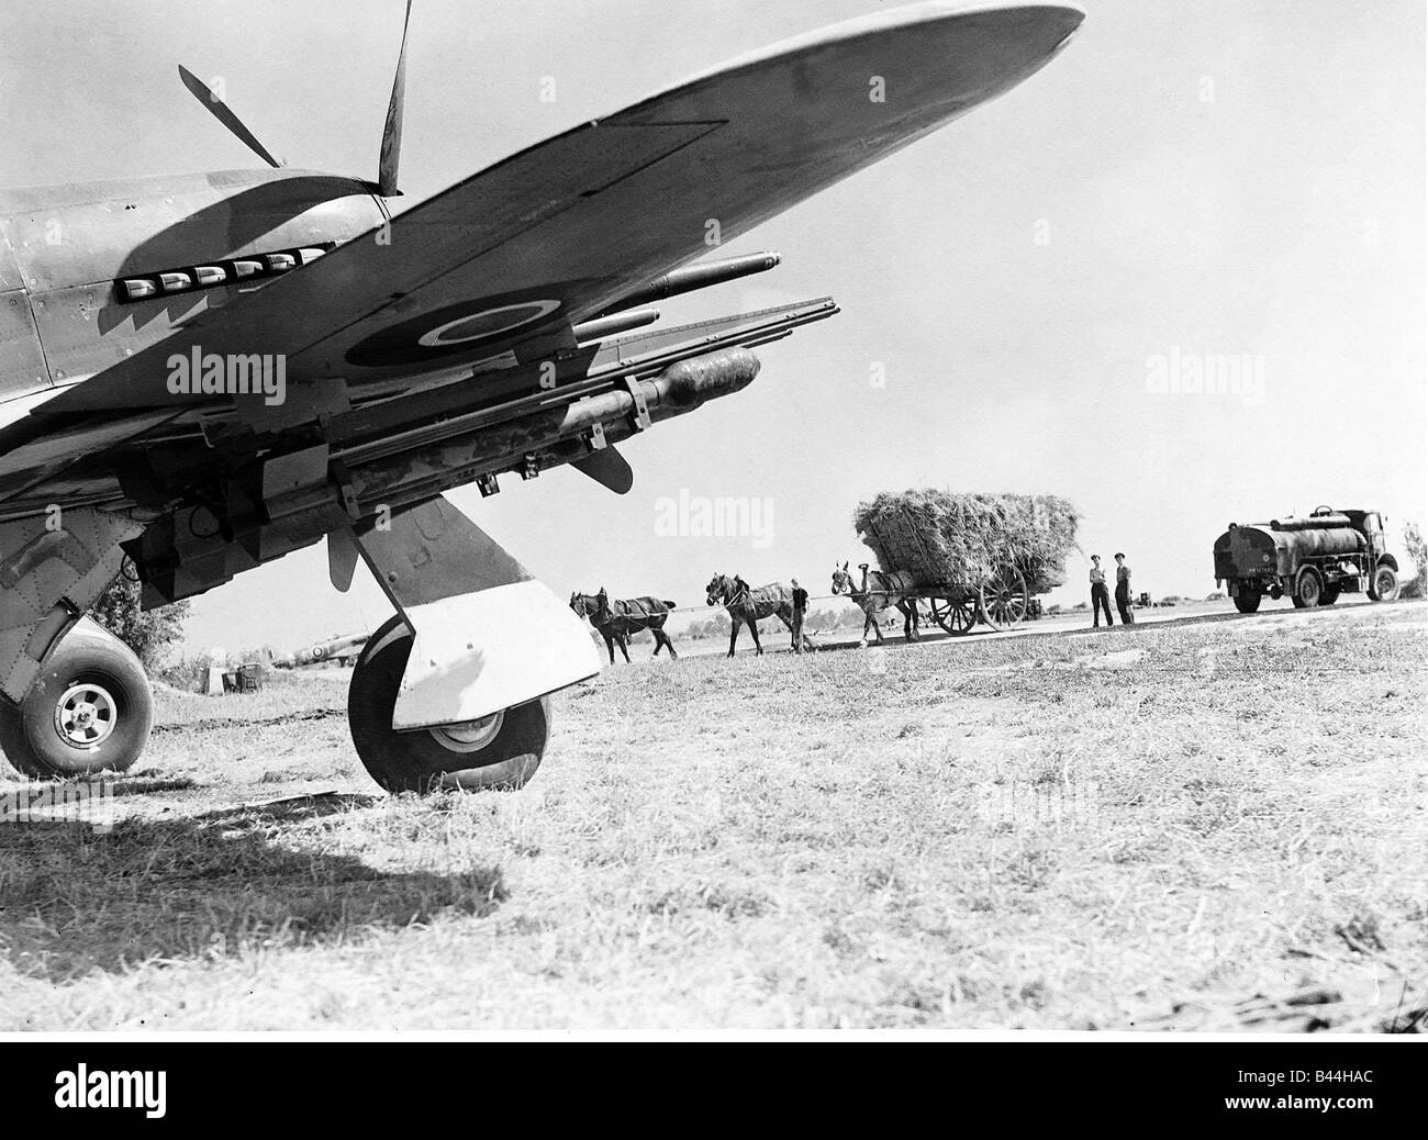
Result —
<instances>
[{"instance_id":1,"label":"aircraft tyre partly hidden behind the white-bottomed landing gear cover","mask_svg":"<svg viewBox=\"0 0 1428 1140\"><path fill-rule=\"evenodd\" d=\"M411 631L393 617L353 666L347 724L371 779L393 793L521 787L545 753L550 701L543 697L466 724L398 733L391 713L411 641Z\"/></svg>"}]
</instances>

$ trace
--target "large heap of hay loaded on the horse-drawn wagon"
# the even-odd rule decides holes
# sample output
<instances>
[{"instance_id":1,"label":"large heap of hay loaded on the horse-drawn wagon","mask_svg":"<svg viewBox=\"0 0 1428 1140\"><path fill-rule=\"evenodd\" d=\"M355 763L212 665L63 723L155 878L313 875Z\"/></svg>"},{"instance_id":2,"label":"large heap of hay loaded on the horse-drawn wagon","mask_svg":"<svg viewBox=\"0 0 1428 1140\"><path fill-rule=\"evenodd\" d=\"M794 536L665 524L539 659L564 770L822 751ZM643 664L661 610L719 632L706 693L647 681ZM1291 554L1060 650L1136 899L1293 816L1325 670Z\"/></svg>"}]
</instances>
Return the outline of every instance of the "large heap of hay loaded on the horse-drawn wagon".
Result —
<instances>
[{"instance_id":1,"label":"large heap of hay loaded on the horse-drawn wagon","mask_svg":"<svg viewBox=\"0 0 1428 1140\"><path fill-rule=\"evenodd\" d=\"M883 570L907 570L918 584L972 586L1015 566L1034 594L1065 581L1077 549L1077 513L1054 494L884 491L853 516Z\"/></svg>"}]
</instances>

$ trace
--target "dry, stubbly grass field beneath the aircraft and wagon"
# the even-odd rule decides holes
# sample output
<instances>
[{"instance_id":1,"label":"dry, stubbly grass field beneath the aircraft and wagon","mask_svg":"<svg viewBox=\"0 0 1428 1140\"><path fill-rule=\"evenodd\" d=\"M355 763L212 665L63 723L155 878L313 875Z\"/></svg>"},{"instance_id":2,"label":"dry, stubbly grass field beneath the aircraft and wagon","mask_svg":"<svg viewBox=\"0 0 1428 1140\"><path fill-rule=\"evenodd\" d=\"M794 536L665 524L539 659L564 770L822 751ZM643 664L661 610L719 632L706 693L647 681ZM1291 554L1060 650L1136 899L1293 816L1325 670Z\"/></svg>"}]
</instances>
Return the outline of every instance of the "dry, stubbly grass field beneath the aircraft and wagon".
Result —
<instances>
[{"instance_id":1,"label":"dry, stubbly grass field beneath the aircraft and wagon","mask_svg":"<svg viewBox=\"0 0 1428 1140\"><path fill-rule=\"evenodd\" d=\"M637 659L426 800L341 676L164 690L111 831L0 827L0 1029L1421 1026L1425 633Z\"/></svg>"}]
</instances>

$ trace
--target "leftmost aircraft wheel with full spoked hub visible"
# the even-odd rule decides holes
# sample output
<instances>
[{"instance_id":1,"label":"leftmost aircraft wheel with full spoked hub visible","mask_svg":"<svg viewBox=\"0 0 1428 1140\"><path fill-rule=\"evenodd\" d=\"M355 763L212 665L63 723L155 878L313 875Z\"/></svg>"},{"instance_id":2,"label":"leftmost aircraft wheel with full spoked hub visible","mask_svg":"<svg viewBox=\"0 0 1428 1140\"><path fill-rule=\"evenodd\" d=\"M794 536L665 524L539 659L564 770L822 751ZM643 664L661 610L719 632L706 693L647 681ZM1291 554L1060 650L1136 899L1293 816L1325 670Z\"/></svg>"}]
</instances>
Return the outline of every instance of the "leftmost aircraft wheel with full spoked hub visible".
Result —
<instances>
[{"instance_id":1,"label":"leftmost aircraft wheel with full spoked hub visible","mask_svg":"<svg viewBox=\"0 0 1428 1140\"><path fill-rule=\"evenodd\" d=\"M154 723L149 676L133 650L87 617L50 656L19 706L0 703L0 751L24 776L124 771Z\"/></svg>"}]
</instances>

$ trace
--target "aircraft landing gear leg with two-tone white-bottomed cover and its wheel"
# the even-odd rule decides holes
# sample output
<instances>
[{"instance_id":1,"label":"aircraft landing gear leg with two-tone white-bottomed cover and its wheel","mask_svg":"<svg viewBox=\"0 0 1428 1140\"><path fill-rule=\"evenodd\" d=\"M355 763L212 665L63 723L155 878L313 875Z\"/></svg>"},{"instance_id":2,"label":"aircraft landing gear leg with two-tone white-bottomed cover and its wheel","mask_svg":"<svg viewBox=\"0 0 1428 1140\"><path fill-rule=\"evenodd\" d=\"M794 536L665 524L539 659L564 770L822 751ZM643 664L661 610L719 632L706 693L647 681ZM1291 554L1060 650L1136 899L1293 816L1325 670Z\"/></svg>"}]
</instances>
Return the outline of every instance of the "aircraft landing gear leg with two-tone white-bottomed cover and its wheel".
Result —
<instances>
[{"instance_id":1,"label":"aircraft landing gear leg with two-tone white-bottomed cover and its wheel","mask_svg":"<svg viewBox=\"0 0 1428 1140\"><path fill-rule=\"evenodd\" d=\"M584 623L446 499L363 524L397 610L347 690L357 756L388 791L521 787L550 739L547 694L600 673Z\"/></svg>"}]
</instances>

